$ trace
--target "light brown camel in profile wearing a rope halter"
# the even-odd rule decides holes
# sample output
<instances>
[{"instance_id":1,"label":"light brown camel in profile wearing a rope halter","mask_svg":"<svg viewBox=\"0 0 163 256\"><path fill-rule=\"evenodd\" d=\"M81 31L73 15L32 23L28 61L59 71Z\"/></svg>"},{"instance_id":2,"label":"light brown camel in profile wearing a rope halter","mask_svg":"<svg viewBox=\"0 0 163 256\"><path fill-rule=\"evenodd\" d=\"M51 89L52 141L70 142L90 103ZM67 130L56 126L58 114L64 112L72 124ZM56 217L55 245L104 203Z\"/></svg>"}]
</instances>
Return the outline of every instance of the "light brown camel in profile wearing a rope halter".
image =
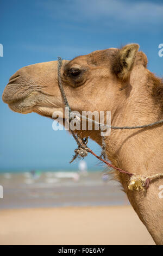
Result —
<instances>
[{"instance_id":1,"label":"light brown camel in profile wearing a rope halter","mask_svg":"<svg viewBox=\"0 0 163 256\"><path fill-rule=\"evenodd\" d=\"M64 115L57 72L57 61L21 68L5 87L3 101L22 114L35 112L52 118L59 110ZM137 44L62 60L61 80L72 111L111 111L114 126L144 125L163 117L163 82L147 69L147 56ZM162 131L161 124L111 130L105 137L106 156L114 166L136 175L163 173ZM99 130L76 132L102 145ZM156 245L162 245L163 199L159 193L163 180L154 180L145 191L130 191L129 175L115 170L115 177Z\"/></svg>"}]
</instances>

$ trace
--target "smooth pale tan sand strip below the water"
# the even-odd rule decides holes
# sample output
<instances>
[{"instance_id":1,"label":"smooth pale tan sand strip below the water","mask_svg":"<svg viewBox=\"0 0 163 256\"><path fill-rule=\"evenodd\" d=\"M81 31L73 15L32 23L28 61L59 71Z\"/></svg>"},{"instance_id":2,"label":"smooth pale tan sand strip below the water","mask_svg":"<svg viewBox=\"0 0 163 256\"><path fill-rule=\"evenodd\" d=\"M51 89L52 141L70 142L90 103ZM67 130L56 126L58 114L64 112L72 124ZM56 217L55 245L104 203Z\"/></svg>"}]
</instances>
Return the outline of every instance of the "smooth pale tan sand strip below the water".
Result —
<instances>
[{"instance_id":1,"label":"smooth pale tan sand strip below the water","mask_svg":"<svg viewBox=\"0 0 163 256\"><path fill-rule=\"evenodd\" d=\"M154 245L131 206L1 210L1 245Z\"/></svg>"}]
</instances>

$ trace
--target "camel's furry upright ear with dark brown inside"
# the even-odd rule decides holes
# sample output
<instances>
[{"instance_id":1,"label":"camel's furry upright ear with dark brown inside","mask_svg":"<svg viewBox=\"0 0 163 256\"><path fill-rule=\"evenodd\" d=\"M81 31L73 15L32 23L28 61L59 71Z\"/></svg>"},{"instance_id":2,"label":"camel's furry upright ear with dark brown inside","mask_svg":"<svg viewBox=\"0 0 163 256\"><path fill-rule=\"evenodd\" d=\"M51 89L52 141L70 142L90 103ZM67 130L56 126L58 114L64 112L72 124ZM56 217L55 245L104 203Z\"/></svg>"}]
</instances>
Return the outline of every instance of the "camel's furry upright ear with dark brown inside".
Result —
<instances>
[{"instance_id":1,"label":"camel's furry upright ear with dark brown inside","mask_svg":"<svg viewBox=\"0 0 163 256\"><path fill-rule=\"evenodd\" d=\"M129 77L138 50L138 44L129 44L118 50L114 66L112 66L112 68L120 79L127 80Z\"/></svg>"}]
</instances>

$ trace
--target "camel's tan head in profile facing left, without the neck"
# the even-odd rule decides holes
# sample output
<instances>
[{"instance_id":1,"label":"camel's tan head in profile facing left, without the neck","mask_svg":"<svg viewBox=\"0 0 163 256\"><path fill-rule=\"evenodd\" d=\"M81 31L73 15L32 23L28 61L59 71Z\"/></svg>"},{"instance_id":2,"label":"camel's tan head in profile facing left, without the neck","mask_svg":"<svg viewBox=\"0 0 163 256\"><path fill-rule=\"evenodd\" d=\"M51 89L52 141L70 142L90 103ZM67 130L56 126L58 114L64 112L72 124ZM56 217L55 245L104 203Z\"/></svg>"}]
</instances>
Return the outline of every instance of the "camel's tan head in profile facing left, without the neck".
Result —
<instances>
[{"instance_id":1,"label":"camel's tan head in profile facing left, without the neck","mask_svg":"<svg viewBox=\"0 0 163 256\"><path fill-rule=\"evenodd\" d=\"M109 48L63 60L61 77L64 90L73 111L116 111L126 88L139 45L129 44L121 49ZM141 59L141 61L140 61ZM137 62L146 63L145 54ZM58 62L25 66L11 76L2 99L12 111L36 112L51 117L63 110L58 86Z\"/></svg>"}]
</instances>

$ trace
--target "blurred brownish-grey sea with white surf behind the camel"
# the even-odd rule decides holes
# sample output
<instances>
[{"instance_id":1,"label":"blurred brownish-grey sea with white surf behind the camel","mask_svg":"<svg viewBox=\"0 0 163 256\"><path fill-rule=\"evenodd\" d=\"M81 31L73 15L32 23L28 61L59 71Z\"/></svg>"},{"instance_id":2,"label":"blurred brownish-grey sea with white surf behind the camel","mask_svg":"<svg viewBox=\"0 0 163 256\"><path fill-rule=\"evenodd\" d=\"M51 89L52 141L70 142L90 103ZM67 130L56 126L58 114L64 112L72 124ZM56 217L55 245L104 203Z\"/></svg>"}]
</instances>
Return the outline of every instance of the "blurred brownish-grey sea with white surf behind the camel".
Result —
<instances>
[{"instance_id":1,"label":"blurred brownish-grey sea with white surf behind the camel","mask_svg":"<svg viewBox=\"0 0 163 256\"><path fill-rule=\"evenodd\" d=\"M120 184L101 170L0 173L0 209L128 205Z\"/></svg>"}]
</instances>

